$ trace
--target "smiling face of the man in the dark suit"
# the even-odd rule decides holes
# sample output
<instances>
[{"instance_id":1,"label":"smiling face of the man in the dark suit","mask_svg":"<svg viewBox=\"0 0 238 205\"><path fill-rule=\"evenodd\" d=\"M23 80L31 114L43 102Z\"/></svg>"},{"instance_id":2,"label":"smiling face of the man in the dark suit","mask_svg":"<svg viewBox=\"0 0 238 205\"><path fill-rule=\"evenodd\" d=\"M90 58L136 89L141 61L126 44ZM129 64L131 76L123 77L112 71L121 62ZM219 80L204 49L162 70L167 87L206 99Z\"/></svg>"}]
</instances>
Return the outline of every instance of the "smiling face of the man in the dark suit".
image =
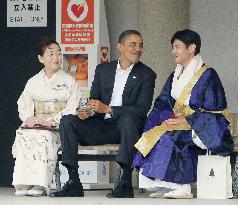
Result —
<instances>
[{"instance_id":1,"label":"smiling face of the man in the dark suit","mask_svg":"<svg viewBox=\"0 0 238 205\"><path fill-rule=\"evenodd\" d=\"M143 52L143 40L140 35L130 34L117 46L120 52L120 65L126 69L137 63Z\"/></svg>"}]
</instances>

